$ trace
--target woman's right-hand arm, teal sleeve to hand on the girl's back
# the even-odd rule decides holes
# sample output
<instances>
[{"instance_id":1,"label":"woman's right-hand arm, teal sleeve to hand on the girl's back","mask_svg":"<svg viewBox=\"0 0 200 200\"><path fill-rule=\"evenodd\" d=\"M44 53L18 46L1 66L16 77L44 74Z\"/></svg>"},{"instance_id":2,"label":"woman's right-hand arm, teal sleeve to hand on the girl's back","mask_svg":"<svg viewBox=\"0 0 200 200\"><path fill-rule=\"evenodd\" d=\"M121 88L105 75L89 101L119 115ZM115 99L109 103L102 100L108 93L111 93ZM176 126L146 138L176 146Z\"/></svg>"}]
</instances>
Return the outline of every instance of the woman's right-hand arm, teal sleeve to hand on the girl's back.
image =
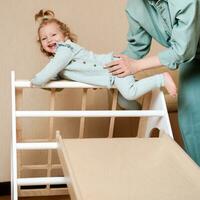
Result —
<instances>
[{"instance_id":1,"label":"woman's right-hand arm, teal sleeve to hand on the girl's back","mask_svg":"<svg viewBox=\"0 0 200 200\"><path fill-rule=\"evenodd\" d=\"M200 10L198 2L194 1L191 3L191 1L188 1L185 4L175 4L173 8L177 10L177 15L170 39L171 46L168 49L158 53L157 56L148 58L136 57L137 60L129 54L127 55L132 57L132 59L120 55L122 60L106 65L109 71L114 75L124 77L161 65L165 65L170 69L176 69L179 64L192 60L195 57L200 37ZM142 38L140 39L142 40ZM137 44L136 38L133 41ZM134 43L129 42L129 52L132 51L133 54L136 54L137 48L135 48Z\"/></svg>"}]
</instances>

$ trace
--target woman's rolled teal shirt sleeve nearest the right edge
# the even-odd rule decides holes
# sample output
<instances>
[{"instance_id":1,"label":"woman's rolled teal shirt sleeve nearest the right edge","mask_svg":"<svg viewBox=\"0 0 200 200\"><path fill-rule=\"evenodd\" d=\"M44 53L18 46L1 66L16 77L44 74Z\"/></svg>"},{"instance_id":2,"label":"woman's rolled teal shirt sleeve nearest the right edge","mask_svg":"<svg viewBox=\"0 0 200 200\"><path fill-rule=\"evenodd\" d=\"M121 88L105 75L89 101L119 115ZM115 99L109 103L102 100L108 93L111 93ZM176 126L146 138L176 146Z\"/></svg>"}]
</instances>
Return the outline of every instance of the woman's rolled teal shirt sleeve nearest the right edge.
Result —
<instances>
[{"instance_id":1,"label":"woman's rolled teal shirt sleeve nearest the right edge","mask_svg":"<svg viewBox=\"0 0 200 200\"><path fill-rule=\"evenodd\" d=\"M200 23L197 1L188 2L177 11L172 28L170 47L158 54L161 64L177 69L179 64L192 60L197 51Z\"/></svg>"}]
</instances>

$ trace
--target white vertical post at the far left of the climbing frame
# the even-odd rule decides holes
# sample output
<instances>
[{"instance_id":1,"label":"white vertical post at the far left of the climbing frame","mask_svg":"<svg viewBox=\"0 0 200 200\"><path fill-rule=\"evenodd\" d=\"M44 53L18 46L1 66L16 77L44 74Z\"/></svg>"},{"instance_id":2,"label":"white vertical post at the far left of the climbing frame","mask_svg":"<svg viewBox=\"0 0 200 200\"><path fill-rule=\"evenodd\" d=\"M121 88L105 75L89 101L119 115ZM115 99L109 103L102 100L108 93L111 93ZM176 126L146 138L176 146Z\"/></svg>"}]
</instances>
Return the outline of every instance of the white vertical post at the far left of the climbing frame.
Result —
<instances>
[{"instance_id":1,"label":"white vertical post at the far left of the climbing frame","mask_svg":"<svg viewBox=\"0 0 200 200\"><path fill-rule=\"evenodd\" d=\"M11 72L12 97L12 139L11 139L11 200L17 200L17 149L16 149L16 99L15 99L15 72Z\"/></svg>"}]
</instances>

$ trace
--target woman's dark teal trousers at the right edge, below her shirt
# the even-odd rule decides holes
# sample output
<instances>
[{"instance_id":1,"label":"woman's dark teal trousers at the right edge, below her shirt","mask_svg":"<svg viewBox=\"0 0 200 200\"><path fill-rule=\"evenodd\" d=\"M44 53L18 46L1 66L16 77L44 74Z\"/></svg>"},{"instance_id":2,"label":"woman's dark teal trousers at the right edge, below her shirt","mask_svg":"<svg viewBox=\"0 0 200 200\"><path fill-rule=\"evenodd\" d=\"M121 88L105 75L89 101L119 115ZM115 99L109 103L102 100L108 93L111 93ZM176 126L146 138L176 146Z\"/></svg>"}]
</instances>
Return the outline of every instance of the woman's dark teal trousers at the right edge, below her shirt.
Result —
<instances>
[{"instance_id":1,"label":"woman's dark teal trousers at the right edge, below her shirt","mask_svg":"<svg viewBox=\"0 0 200 200\"><path fill-rule=\"evenodd\" d=\"M200 166L200 60L179 69L179 126L186 152Z\"/></svg>"}]
</instances>

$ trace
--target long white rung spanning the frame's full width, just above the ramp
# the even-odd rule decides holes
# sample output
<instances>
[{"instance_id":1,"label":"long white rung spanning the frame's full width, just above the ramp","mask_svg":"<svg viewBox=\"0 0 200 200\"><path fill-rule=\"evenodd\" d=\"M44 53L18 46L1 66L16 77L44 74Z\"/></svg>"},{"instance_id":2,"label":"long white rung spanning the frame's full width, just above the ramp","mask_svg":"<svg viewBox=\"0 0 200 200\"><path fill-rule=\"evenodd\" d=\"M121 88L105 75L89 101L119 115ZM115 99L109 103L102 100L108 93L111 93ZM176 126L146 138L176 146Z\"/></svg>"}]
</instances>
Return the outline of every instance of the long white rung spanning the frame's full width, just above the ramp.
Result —
<instances>
[{"instance_id":1,"label":"long white rung spanning the frame's full width, just above the ramp","mask_svg":"<svg viewBox=\"0 0 200 200\"><path fill-rule=\"evenodd\" d=\"M16 117L162 117L162 110L16 111Z\"/></svg>"}]
</instances>

